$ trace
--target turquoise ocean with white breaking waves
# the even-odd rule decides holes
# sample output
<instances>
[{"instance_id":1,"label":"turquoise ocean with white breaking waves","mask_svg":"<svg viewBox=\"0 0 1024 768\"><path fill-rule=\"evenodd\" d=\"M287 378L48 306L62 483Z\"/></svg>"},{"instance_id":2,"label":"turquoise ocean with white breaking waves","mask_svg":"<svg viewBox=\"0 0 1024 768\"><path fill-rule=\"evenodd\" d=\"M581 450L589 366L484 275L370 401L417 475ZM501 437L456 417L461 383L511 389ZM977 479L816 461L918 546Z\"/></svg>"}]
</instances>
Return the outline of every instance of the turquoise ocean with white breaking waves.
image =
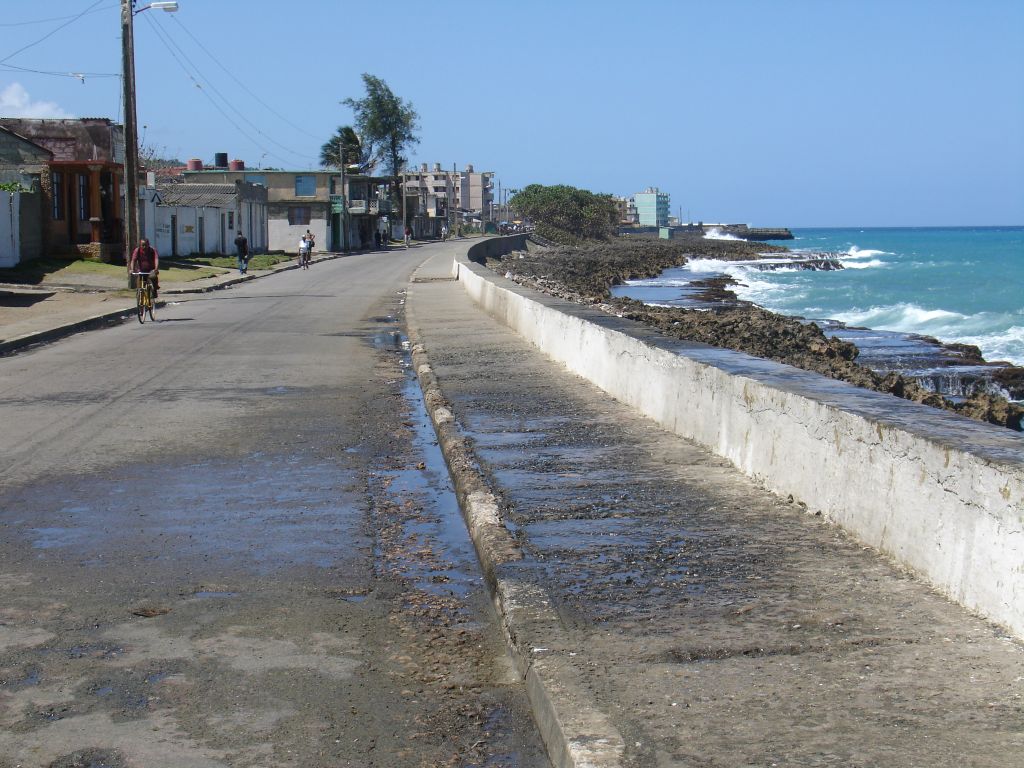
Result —
<instances>
[{"instance_id":1,"label":"turquoise ocean with white breaking waves","mask_svg":"<svg viewBox=\"0 0 1024 768\"><path fill-rule=\"evenodd\" d=\"M1024 366L1024 226L794 229L798 255L836 254L844 269L703 260L634 281L617 295L685 305L692 280L729 274L739 298L783 314L931 336L978 346L988 360ZM843 336L840 333L838 335ZM857 339L851 339L855 342Z\"/></svg>"}]
</instances>

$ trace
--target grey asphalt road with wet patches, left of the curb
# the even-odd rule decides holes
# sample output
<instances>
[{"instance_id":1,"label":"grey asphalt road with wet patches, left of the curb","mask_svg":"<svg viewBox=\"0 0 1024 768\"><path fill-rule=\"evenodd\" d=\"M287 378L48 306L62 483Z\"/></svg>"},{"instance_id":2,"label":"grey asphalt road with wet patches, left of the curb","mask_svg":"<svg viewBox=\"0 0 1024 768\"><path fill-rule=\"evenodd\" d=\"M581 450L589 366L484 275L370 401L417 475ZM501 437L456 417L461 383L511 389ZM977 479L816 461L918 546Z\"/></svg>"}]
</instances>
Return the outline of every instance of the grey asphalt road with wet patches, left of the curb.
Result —
<instances>
[{"instance_id":1,"label":"grey asphalt road with wet patches, left of the curb","mask_svg":"<svg viewBox=\"0 0 1024 768\"><path fill-rule=\"evenodd\" d=\"M0 359L0 768L546 765L353 256Z\"/></svg>"}]
</instances>

